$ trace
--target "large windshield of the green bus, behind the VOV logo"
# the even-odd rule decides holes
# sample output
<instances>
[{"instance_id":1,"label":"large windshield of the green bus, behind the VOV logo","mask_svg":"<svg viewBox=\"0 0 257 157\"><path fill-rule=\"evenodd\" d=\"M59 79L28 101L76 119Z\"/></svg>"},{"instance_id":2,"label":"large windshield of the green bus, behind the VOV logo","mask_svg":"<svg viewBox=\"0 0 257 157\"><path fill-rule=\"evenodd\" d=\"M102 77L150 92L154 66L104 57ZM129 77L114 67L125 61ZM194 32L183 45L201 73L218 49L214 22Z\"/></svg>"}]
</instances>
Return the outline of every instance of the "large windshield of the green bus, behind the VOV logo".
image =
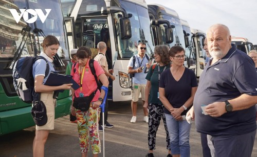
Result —
<instances>
[{"instance_id":1,"label":"large windshield of the green bus, behind the VOV logo","mask_svg":"<svg viewBox=\"0 0 257 157\"><path fill-rule=\"evenodd\" d=\"M20 0L12 1L12 3L3 1L0 6L0 58L12 59L15 53L22 53L20 57L38 55L42 51L39 43L42 43L44 35L56 36L60 41L59 56L69 57L67 42L64 37L65 25L59 1ZM13 17L15 14L13 15L10 9L13 9L14 13L22 15L18 24ZM20 9L28 11L21 14ZM51 9L48 15L45 9ZM32 15L38 13L35 10L40 10L44 15L47 15L44 22L39 14ZM23 51L16 52L23 45Z\"/></svg>"}]
</instances>

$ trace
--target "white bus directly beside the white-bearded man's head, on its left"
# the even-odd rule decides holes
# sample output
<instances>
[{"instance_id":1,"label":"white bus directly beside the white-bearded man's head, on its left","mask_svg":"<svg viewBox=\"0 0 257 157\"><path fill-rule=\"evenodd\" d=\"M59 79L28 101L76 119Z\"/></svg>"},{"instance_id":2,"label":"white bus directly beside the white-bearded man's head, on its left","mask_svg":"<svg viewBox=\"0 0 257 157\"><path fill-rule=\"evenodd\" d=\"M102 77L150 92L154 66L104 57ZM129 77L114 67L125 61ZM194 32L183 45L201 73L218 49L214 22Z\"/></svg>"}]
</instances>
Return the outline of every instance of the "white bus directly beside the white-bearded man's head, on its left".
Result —
<instances>
[{"instance_id":1,"label":"white bus directly beside the white-bearded man's head, on its left","mask_svg":"<svg viewBox=\"0 0 257 157\"><path fill-rule=\"evenodd\" d=\"M206 52L204 50L204 43L206 33L198 29L191 29L192 43L194 51L196 52L196 77L200 77L201 73L205 69Z\"/></svg>"}]
</instances>

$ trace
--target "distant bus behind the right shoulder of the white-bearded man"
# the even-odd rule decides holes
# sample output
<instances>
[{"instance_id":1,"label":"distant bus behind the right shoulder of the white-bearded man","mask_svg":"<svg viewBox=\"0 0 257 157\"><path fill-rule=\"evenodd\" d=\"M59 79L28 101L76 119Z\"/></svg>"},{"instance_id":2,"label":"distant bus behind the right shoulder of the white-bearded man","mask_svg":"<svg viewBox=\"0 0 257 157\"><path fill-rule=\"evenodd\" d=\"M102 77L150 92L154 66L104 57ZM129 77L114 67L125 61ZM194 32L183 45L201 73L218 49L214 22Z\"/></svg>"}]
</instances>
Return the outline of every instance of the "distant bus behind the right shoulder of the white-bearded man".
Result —
<instances>
[{"instance_id":1,"label":"distant bus behind the right shoulder of the white-bearded man","mask_svg":"<svg viewBox=\"0 0 257 157\"><path fill-rule=\"evenodd\" d=\"M253 50L253 44L247 38L232 37L231 43L235 44L238 50L241 50L246 54Z\"/></svg>"}]
</instances>

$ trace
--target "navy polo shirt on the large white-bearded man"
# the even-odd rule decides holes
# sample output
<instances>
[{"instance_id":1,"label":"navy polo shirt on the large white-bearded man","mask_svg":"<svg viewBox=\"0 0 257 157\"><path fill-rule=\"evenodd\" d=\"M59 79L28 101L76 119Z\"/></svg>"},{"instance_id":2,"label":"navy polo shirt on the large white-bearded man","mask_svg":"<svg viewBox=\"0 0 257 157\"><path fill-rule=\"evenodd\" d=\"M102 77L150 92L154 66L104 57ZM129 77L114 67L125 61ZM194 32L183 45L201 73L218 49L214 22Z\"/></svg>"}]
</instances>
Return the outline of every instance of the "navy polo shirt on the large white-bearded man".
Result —
<instances>
[{"instance_id":1,"label":"navy polo shirt on the large white-bearded man","mask_svg":"<svg viewBox=\"0 0 257 157\"><path fill-rule=\"evenodd\" d=\"M196 130L219 136L245 134L256 130L255 106L232 111L220 117L201 113L200 106L223 102L242 94L257 95L257 73L253 60L234 45L227 55L213 65L206 65L194 97Z\"/></svg>"}]
</instances>

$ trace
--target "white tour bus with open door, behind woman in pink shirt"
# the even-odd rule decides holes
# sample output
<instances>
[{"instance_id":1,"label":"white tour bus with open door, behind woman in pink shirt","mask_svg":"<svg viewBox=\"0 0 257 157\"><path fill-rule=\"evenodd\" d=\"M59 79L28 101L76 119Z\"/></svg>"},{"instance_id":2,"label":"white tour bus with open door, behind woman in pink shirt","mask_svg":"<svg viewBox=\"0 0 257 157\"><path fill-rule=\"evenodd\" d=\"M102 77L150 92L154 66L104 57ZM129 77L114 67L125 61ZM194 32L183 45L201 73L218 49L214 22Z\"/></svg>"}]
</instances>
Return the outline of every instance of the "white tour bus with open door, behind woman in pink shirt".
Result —
<instances>
[{"instance_id":1,"label":"white tour bus with open door, behind woman in pink shirt","mask_svg":"<svg viewBox=\"0 0 257 157\"><path fill-rule=\"evenodd\" d=\"M139 41L146 41L146 53L151 56L154 47L148 7L144 0L61 0L66 16L76 38L77 47L86 46L94 58L97 44L107 44L108 69L114 70L114 81L109 81L108 99L127 101L132 99L131 79L127 74L130 58L137 54ZM68 25L67 25L68 26ZM70 36L70 39L73 37ZM75 44L74 44L75 45ZM76 47L76 48L77 48ZM133 80L133 79L132 79Z\"/></svg>"}]
</instances>

